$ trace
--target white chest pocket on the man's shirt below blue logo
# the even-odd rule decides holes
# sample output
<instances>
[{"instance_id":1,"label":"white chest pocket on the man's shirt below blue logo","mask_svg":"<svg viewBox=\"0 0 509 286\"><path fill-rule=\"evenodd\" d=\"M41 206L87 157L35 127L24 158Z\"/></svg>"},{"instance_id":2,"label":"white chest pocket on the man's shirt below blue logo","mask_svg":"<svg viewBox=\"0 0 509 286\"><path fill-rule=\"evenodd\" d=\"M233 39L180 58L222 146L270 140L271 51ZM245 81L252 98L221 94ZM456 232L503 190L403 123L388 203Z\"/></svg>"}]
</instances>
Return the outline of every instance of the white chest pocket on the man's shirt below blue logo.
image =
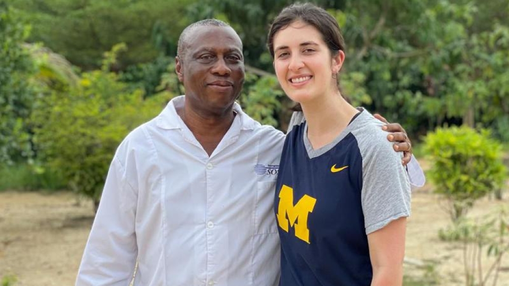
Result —
<instances>
[{"instance_id":1,"label":"white chest pocket on the man's shirt below blue logo","mask_svg":"<svg viewBox=\"0 0 509 286\"><path fill-rule=\"evenodd\" d=\"M256 205L254 206L255 234L277 233L274 215L274 192L276 181L257 183Z\"/></svg>"}]
</instances>

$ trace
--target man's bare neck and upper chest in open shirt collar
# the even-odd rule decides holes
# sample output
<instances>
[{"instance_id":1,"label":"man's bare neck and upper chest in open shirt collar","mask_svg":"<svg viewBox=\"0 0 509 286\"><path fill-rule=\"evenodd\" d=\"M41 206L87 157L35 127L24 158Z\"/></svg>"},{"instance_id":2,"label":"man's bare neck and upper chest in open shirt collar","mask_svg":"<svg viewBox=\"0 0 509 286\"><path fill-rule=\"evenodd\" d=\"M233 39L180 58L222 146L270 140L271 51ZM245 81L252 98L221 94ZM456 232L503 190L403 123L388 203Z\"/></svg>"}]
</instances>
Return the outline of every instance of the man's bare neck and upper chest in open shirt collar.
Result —
<instances>
[{"instance_id":1,"label":"man's bare neck and upper chest in open shirt collar","mask_svg":"<svg viewBox=\"0 0 509 286\"><path fill-rule=\"evenodd\" d=\"M212 155L219 142L232 126L235 119L233 108L229 108L221 115L203 115L195 112L188 105L177 109L177 114L192 132L196 140L202 145L209 157Z\"/></svg>"}]
</instances>

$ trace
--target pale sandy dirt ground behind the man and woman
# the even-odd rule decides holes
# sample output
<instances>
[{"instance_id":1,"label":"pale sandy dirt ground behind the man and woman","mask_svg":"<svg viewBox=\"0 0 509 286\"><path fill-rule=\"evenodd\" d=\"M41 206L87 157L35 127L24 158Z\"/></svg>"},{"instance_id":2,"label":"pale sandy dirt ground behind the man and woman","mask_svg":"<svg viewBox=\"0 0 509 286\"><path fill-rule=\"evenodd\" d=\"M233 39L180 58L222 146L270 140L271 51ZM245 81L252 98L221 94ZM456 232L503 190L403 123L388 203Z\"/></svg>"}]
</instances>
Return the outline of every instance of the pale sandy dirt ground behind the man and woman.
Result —
<instances>
[{"instance_id":1,"label":"pale sandy dirt ground behind the man and woman","mask_svg":"<svg viewBox=\"0 0 509 286\"><path fill-rule=\"evenodd\" d=\"M482 215L508 202L482 199L469 215ZM0 193L0 278L14 274L17 286L73 285L92 220L92 204L71 193ZM413 193L406 275L422 276L426 271L414 264L434 263L428 275L437 276L439 285L463 285L461 245L442 242L437 235L448 224L437 195L426 188ZM509 254L497 285L509 285Z\"/></svg>"}]
</instances>

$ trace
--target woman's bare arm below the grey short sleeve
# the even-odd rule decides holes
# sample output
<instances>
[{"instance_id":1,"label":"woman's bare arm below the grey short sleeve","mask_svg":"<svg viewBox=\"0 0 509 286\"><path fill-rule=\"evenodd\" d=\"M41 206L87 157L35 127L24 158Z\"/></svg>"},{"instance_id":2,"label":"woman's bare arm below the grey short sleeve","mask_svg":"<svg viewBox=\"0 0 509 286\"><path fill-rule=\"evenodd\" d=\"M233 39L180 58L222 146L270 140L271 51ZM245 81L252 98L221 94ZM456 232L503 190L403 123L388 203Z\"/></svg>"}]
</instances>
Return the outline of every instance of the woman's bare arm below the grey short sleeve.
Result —
<instances>
[{"instance_id":1,"label":"woman's bare arm below the grey short sleeve","mask_svg":"<svg viewBox=\"0 0 509 286\"><path fill-rule=\"evenodd\" d=\"M401 217L367 235L373 267L371 286L403 284L406 224L406 217Z\"/></svg>"}]
</instances>

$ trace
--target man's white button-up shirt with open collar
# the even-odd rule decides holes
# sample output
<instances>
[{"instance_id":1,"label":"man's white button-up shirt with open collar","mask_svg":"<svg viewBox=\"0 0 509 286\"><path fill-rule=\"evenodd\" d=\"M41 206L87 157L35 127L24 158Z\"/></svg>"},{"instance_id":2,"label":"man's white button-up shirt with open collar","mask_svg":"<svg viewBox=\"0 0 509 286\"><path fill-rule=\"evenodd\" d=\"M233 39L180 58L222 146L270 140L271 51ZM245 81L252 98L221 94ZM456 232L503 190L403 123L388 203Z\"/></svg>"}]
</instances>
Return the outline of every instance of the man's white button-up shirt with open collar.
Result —
<instances>
[{"instance_id":1,"label":"man's white button-up shirt with open collar","mask_svg":"<svg viewBox=\"0 0 509 286\"><path fill-rule=\"evenodd\" d=\"M272 286L273 213L285 136L235 104L209 157L177 115L184 97L122 142L111 163L76 285Z\"/></svg>"}]
</instances>

